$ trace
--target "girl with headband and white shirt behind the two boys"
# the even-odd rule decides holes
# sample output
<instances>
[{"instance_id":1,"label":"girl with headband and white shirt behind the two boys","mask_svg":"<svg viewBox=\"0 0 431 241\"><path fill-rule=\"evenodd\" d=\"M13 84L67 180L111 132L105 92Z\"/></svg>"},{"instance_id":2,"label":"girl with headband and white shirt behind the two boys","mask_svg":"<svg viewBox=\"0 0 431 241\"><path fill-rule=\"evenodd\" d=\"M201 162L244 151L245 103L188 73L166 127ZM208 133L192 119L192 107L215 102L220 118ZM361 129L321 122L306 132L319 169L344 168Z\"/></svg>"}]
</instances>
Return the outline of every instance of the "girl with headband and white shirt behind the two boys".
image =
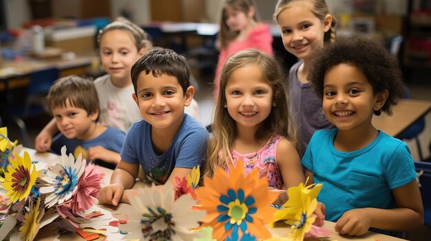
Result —
<instances>
[{"instance_id":1,"label":"girl with headband and white shirt behind the two boys","mask_svg":"<svg viewBox=\"0 0 431 241\"><path fill-rule=\"evenodd\" d=\"M99 121L127 133L134 122L142 119L139 108L132 98L134 87L130 69L136 60L152 48L152 45L142 28L124 18L118 18L106 25L99 32L97 41L102 67L107 72L105 76L94 80L100 103ZM197 102L194 103L197 106ZM58 131L53 119L36 137L36 150L39 152L50 150L52 136ZM103 154L89 153L93 159L98 159L98 156Z\"/></svg>"}]
</instances>

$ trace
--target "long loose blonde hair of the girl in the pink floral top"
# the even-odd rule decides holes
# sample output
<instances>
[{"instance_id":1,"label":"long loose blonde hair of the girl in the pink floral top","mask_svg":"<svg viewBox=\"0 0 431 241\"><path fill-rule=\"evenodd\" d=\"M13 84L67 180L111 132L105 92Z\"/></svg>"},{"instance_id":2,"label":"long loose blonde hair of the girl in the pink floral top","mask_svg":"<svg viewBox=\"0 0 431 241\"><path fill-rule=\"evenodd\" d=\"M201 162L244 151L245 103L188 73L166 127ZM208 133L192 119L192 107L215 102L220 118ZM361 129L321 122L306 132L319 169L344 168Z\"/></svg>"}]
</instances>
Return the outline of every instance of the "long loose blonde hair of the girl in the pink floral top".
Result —
<instances>
[{"instance_id":1,"label":"long loose blonde hair of the girl in the pink floral top","mask_svg":"<svg viewBox=\"0 0 431 241\"><path fill-rule=\"evenodd\" d=\"M207 149L205 174L212 176L215 168L226 167L231 162L231 148L238 135L235 120L229 115L226 104L226 94L229 78L233 71L248 65L257 65L262 71L262 78L273 89L273 107L268 117L260 124L255 133L257 140L264 140L271 135L282 135L297 146L295 126L288 115L288 100L284 88L280 67L273 56L255 49L239 51L229 57L222 68L220 76L220 95L215 103L215 113L212 126L212 137Z\"/></svg>"}]
</instances>

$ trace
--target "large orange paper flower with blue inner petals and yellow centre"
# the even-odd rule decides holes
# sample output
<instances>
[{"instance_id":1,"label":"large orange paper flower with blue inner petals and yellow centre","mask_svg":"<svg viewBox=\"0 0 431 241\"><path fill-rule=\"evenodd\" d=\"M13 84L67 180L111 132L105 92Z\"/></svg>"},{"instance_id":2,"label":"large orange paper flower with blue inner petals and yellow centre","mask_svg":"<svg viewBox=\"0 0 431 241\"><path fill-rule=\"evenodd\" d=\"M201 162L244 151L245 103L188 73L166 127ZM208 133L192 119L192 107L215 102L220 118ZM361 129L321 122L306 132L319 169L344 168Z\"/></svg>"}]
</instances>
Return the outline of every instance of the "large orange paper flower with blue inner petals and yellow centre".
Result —
<instances>
[{"instance_id":1,"label":"large orange paper flower with blue inner petals and yellow centre","mask_svg":"<svg viewBox=\"0 0 431 241\"><path fill-rule=\"evenodd\" d=\"M271 238L265 225L273 220L275 209L270 205L278 194L269 191L266 177L260 179L258 170L244 176L241 160L229 165L229 175L217 168L212 178L205 176L196 194L198 208L207 211L202 227L213 227L216 240Z\"/></svg>"}]
</instances>

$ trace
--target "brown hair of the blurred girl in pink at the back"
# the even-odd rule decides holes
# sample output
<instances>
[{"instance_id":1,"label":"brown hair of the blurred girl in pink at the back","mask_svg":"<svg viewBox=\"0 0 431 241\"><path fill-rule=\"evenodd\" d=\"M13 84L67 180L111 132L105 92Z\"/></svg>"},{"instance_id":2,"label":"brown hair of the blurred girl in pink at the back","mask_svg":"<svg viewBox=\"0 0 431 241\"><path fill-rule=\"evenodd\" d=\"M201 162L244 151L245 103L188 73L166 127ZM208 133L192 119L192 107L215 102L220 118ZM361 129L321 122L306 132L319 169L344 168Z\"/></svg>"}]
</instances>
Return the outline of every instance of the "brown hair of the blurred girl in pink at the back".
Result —
<instances>
[{"instance_id":1,"label":"brown hair of the blurred girl in pink at the back","mask_svg":"<svg viewBox=\"0 0 431 241\"><path fill-rule=\"evenodd\" d=\"M220 49L224 49L227 47L230 41L233 41L240 32L233 32L229 29L229 26L226 24L226 9L227 7L231 7L234 10L239 10L244 12L245 14L249 14L251 8L254 8L255 14L253 15L253 21L257 22L259 16L257 16L257 10L255 8L255 4L253 0L226 0L224 1L222 14L220 18L220 31L217 35L217 46Z\"/></svg>"}]
</instances>

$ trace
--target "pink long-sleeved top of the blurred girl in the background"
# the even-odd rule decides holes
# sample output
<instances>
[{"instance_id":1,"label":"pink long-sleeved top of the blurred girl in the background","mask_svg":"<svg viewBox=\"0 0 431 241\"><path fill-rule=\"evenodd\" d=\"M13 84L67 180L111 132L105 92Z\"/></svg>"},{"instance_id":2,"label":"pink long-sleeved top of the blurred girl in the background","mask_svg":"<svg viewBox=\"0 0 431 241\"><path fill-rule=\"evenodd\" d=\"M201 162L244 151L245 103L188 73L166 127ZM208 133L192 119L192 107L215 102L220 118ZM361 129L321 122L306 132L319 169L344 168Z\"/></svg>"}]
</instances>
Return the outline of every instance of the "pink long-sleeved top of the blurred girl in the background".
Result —
<instances>
[{"instance_id":1,"label":"pink long-sleeved top of the blurred girl in the background","mask_svg":"<svg viewBox=\"0 0 431 241\"><path fill-rule=\"evenodd\" d=\"M217 69L215 69L214 80L214 98L217 100L218 91L220 89L220 74L224 62L238 51L244 49L257 49L259 51L273 54L273 36L269 30L269 25L264 23L257 23L257 26L251 30L249 36L244 41L233 41L229 43L224 49L220 49L220 56L218 57Z\"/></svg>"}]
</instances>

